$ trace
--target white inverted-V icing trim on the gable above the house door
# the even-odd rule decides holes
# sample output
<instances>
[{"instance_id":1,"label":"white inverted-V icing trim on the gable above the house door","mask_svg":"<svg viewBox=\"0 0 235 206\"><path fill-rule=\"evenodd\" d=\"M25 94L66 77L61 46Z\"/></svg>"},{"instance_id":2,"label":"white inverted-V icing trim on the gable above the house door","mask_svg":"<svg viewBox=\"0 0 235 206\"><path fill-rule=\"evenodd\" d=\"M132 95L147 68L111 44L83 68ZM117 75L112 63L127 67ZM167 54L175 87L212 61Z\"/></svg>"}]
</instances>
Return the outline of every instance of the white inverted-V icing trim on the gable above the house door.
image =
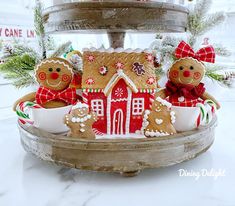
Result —
<instances>
[{"instance_id":1,"label":"white inverted-V icing trim on the gable above the house door","mask_svg":"<svg viewBox=\"0 0 235 206\"><path fill-rule=\"evenodd\" d=\"M109 83L106 85L104 89L104 94L107 95L109 90L115 85L115 83L120 79L123 78L126 82L127 85L132 88L132 90L137 93L138 89L135 86L134 82L123 72L122 69L118 69L117 73L115 73L112 78L110 79Z\"/></svg>"}]
</instances>

